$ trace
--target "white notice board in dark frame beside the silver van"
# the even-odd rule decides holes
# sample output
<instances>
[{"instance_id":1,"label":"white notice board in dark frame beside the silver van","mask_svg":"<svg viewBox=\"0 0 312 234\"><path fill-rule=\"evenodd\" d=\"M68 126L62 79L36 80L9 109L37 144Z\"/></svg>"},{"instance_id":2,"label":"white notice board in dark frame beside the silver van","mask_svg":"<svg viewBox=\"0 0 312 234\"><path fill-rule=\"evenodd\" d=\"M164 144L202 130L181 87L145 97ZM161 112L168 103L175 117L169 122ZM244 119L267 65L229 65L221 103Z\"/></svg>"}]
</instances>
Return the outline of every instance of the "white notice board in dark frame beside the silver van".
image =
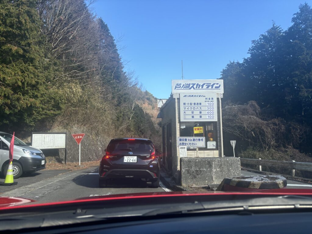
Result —
<instances>
[{"instance_id":1,"label":"white notice board in dark frame beside the silver van","mask_svg":"<svg viewBox=\"0 0 312 234\"><path fill-rule=\"evenodd\" d=\"M38 149L66 148L66 133L32 133L32 146Z\"/></svg>"}]
</instances>

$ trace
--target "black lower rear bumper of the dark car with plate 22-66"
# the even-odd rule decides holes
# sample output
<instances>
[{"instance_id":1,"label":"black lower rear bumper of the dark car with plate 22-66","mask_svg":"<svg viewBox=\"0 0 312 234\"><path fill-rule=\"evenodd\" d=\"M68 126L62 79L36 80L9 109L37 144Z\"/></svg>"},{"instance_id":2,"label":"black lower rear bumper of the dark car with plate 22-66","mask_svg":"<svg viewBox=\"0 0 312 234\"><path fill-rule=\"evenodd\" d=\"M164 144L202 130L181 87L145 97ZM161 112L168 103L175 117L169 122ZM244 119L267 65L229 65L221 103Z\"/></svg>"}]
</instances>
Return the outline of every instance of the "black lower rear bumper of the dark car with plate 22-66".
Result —
<instances>
[{"instance_id":1,"label":"black lower rear bumper of the dark car with plate 22-66","mask_svg":"<svg viewBox=\"0 0 312 234\"><path fill-rule=\"evenodd\" d=\"M140 178L140 179L157 179L158 174L149 170L138 169L113 169L100 175L100 180L109 178Z\"/></svg>"}]
</instances>

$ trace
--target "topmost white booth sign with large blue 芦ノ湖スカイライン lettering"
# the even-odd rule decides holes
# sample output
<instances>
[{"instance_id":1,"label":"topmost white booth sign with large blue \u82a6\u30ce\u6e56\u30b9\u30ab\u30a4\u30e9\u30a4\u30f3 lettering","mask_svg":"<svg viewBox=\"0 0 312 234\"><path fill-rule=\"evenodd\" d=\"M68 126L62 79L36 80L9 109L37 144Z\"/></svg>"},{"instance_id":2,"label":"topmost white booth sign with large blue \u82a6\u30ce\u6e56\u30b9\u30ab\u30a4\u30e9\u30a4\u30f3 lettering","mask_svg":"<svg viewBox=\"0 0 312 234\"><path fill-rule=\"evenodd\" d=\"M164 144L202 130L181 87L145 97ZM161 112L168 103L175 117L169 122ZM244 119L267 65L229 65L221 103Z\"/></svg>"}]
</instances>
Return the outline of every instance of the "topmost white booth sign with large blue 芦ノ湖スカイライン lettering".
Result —
<instances>
[{"instance_id":1,"label":"topmost white booth sign with large blue \u82a6\u30ce\u6e56\u30b9\u30ab\u30a4\u30e9\u30a4\u30f3 lettering","mask_svg":"<svg viewBox=\"0 0 312 234\"><path fill-rule=\"evenodd\" d=\"M223 93L223 80L172 80L172 93Z\"/></svg>"}]
</instances>

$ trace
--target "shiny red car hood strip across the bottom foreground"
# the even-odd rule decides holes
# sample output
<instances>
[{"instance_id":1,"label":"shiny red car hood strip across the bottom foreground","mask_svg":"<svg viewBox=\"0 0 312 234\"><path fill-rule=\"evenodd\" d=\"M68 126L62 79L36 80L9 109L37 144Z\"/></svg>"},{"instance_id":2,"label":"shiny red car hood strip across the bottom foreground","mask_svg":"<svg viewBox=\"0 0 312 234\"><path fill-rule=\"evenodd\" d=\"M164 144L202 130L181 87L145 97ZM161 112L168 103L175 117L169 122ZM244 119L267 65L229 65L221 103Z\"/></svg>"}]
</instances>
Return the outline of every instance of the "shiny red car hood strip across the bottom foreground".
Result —
<instances>
[{"instance_id":1,"label":"shiny red car hood strip across the bottom foreground","mask_svg":"<svg viewBox=\"0 0 312 234\"><path fill-rule=\"evenodd\" d=\"M60 202L39 202L32 199L20 197L0 197L0 211L7 209L23 209L29 207L44 207L44 206L59 206L66 204L80 204L86 202L98 202L108 200L123 200L137 198L155 198L155 197L185 197L185 196L224 196L224 195L311 195L312 189L267 189L260 192L221 192L221 191L202 191L202 192L155 192L155 193L131 193L131 194L116 194L95 197L82 197L76 200L60 201ZM28 203L28 204L26 204Z\"/></svg>"}]
</instances>

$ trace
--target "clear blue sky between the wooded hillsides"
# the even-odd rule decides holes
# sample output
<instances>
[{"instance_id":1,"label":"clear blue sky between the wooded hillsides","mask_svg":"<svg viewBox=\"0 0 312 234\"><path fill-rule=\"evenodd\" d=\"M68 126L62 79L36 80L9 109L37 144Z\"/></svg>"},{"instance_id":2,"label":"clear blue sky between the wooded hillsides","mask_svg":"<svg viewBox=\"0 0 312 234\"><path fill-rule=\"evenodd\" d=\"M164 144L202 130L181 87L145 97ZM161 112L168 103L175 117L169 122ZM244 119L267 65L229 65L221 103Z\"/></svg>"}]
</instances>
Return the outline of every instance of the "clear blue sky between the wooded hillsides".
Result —
<instances>
[{"instance_id":1,"label":"clear blue sky between the wooded hillsides","mask_svg":"<svg viewBox=\"0 0 312 234\"><path fill-rule=\"evenodd\" d=\"M231 60L248 57L251 41L272 26L283 29L300 4L312 0L98 0L93 5L119 42L125 71L145 89L168 98L171 80L217 79Z\"/></svg>"}]
</instances>

